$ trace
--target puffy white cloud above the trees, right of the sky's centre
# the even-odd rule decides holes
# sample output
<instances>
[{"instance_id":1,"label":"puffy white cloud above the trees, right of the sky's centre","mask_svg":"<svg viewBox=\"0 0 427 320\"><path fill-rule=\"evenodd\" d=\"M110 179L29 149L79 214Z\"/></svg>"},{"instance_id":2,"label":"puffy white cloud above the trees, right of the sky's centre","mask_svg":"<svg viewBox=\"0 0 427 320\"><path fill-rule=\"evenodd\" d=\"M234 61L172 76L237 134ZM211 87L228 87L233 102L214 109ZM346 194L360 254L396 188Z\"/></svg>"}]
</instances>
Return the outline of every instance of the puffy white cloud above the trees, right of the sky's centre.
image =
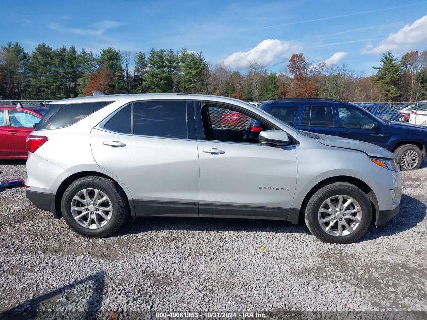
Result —
<instances>
[{"instance_id":1,"label":"puffy white cloud above the trees, right of the sky's centre","mask_svg":"<svg viewBox=\"0 0 427 320\"><path fill-rule=\"evenodd\" d=\"M249 51L231 54L223 60L223 63L236 69L245 68L251 61L275 65L285 61L292 54L300 52L301 49L302 45L299 43L291 44L277 39L267 39Z\"/></svg>"}]
</instances>

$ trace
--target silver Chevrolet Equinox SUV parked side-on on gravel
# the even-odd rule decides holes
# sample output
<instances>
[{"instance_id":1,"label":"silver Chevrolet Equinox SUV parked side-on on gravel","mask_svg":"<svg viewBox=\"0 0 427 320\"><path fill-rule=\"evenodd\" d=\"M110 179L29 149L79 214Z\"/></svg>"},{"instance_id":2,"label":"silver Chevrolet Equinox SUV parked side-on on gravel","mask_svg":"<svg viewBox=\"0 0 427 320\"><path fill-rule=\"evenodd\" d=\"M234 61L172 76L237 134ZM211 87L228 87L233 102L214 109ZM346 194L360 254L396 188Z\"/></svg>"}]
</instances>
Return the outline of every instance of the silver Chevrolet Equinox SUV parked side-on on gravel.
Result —
<instances>
[{"instance_id":1,"label":"silver Chevrolet Equinox SUV parked side-on on gravel","mask_svg":"<svg viewBox=\"0 0 427 320\"><path fill-rule=\"evenodd\" d=\"M396 215L402 194L389 151L218 96L55 101L27 149L28 199L86 237L130 214L304 219L321 241L351 243Z\"/></svg>"}]
</instances>

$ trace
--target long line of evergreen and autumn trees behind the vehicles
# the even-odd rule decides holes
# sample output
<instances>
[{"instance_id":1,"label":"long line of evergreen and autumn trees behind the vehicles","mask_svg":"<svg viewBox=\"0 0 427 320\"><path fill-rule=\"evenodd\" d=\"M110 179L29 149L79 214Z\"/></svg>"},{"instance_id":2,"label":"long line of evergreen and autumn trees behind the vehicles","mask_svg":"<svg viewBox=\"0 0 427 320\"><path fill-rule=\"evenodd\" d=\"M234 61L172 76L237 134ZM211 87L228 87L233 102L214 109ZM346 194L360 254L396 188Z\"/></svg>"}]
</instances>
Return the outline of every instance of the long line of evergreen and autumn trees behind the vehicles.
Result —
<instances>
[{"instance_id":1,"label":"long line of evergreen and autumn trees behind the vehicles","mask_svg":"<svg viewBox=\"0 0 427 320\"><path fill-rule=\"evenodd\" d=\"M84 48L53 49L45 43L28 53L19 43L0 48L0 98L54 100L106 93L200 93L260 101L275 97L323 97L346 101L417 101L427 99L427 50L400 59L383 54L374 76L347 64L313 63L302 53L282 71L259 61L246 72L211 64L201 52L185 48L94 54Z\"/></svg>"}]
</instances>

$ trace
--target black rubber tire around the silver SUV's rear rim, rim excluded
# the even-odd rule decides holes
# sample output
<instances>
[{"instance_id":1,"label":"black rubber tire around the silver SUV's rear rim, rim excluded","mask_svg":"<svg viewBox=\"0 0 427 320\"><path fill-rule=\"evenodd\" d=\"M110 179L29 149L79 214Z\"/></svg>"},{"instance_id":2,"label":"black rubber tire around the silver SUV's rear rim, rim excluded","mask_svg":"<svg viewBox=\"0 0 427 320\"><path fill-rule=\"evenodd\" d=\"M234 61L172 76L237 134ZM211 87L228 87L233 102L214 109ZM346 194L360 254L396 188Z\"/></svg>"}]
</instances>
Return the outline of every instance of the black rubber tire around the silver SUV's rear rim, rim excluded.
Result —
<instances>
[{"instance_id":1,"label":"black rubber tire around the silver SUV's rear rim, rim excluded","mask_svg":"<svg viewBox=\"0 0 427 320\"><path fill-rule=\"evenodd\" d=\"M71 201L73 197L80 191L86 188L96 188L103 192L111 202L112 216L108 223L98 229L89 229L77 223L71 213ZM129 205L126 201L127 197L116 184L116 182L98 176L88 176L80 178L65 190L61 200L61 211L65 222L77 234L88 238L103 238L114 233L124 222Z\"/></svg>"}]
</instances>

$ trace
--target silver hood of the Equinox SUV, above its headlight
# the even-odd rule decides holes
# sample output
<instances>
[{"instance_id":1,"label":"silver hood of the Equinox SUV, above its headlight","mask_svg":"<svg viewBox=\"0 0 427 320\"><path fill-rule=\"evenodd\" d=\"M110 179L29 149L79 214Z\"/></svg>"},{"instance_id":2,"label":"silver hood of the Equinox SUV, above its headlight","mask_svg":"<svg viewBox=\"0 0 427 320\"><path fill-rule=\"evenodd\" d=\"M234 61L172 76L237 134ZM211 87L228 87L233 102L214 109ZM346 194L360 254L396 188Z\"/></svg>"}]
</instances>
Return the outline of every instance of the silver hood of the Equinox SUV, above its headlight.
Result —
<instances>
[{"instance_id":1,"label":"silver hood of the Equinox SUV, above its headlight","mask_svg":"<svg viewBox=\"0 0 427 320\"><path fill-rule=\"evenodd\" d=\"M325 134L316 135L318 136L318 138L316 138L317 141L326 146L357 150L364 152L371 157L394 159L394 154L390 151L368 142Z\"/></svg>"}]
</instances>

